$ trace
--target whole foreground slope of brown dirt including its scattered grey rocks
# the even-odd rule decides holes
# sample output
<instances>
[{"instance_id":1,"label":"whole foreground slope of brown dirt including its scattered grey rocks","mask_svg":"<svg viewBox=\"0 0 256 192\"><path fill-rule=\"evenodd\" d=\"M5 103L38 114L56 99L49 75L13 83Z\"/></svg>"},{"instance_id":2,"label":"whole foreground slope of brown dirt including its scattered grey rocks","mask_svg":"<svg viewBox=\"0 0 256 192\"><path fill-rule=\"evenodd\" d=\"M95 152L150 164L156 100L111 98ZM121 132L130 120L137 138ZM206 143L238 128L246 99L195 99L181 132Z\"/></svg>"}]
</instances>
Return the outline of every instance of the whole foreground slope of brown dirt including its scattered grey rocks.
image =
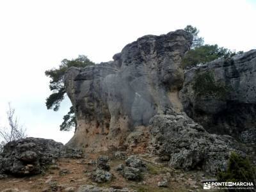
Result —
<instances>
[{"instance_id":1,"label":"whole foreground slope of brown dirt including its scattered grey rocks","mask_svg":"<svg viewBox=\"0 0 256 192\"><path fill-rule=\"evenodd\" d=\"M123 170L120 164L123 164ZM97 175L97 170L100 170L100 175ZM134 170L139 170L138 177L136 171L132 172ZM106 172L110 173L110 179ZM202 179L207 179L207 176L200 170L183 172L148 154L129 156L115 152L86 154L80 159L61 158L40 175L1 179L0 189L5 192L203 191Z\"/></svg>"}]
</instances>

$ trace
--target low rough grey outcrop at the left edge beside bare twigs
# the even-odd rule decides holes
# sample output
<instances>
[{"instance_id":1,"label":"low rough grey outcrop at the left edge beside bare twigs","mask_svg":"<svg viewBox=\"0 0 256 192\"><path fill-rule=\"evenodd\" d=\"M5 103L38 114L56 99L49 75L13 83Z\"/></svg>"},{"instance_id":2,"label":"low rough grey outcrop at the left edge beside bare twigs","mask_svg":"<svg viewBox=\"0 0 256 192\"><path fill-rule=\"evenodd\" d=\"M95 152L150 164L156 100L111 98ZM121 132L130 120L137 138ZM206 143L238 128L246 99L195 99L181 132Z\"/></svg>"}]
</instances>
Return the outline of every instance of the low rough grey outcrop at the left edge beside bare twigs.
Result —
<instances>
[{"instance_id":1,"label":"low rough grey outcrop at the left edge beside bare twigs","mask_svg":"<svg viewBox=\"0 0 256 192\"><path fill-rule=\"evenodd\" d=\"M81 157L81 150L42 138L25 138L4 145L0 156L0 174L36 175L59 157Z\"/></svg>"}]
</instances>

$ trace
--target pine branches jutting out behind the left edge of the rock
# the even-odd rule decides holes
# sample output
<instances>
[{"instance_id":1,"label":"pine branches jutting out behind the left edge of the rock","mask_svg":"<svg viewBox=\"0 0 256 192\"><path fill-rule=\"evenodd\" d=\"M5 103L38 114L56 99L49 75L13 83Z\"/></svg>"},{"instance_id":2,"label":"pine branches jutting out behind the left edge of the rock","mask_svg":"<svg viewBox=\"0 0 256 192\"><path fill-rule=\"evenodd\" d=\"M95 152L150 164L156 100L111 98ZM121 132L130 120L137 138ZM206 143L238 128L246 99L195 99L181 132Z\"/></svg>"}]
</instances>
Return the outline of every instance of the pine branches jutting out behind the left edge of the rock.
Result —
<instances>
[{"instance_id":1,"label":"pine branches jutting out behind the left edge of the rock","mask_svg":"<svg viewBox=\"0 0 256 192\"><path fill-rule=\"evenodd\" d=\"M65 88L64 88L64 75L68 68L70 67L87 67L89 65L94 65L86 56L79 55L78 58L74 60L62 60L61 65L58 68L51 68L45 71L45 76L50 77L49 88L52 94L46 99L47 109L52 109L58 111L60 108L61 101L65 98ZM74 116L74 109L70 108L67 115L63 117L64 122L60 125L61 131L68 131L76 125L76 118Z\"/></svg>"}]
</instances>

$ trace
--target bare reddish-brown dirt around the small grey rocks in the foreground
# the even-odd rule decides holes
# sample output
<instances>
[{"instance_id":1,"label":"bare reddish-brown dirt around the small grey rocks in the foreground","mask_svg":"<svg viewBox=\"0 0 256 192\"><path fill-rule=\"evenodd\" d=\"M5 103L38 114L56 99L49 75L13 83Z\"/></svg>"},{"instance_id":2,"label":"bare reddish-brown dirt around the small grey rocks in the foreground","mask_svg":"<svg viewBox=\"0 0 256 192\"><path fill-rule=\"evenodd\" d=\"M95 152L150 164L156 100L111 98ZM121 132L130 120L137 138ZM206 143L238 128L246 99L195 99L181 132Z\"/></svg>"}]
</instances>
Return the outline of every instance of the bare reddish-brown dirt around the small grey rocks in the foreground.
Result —
<instances>
[{"instance_id":1,"label":"bare reddish-brown dirt around the small grey rocks in the foreground","mask_svg":"<svg viewBox=\"0 0 256 192\"><path fill-rule=\"evenodd\" d=\"M0 190L6 188L17 188L20 191L49 191L49 185L52 182L57 184L57 191L65 191L66 188L74 187L76 189L83 184L94 184L100 187L112 187L116 189L132 188L139 192L152 191L152 192L167 192L167 191L204 191L202 179L206 179L204 173L196 172L183 172L170 168L167 163L156 163L152 159L141 156L147 163L147 172L143 173L143 180L130 181L125 180L115 168L118 164L125 164L125 161L120 159L111 159L109 161L114 179L111 182L104 184L93 183L88 177L88 173L92 172L95 168L95 159L100 154L88 154L83 159L59 159L56 163L57 166L49 166L49 169L40 175L24 177L24 178L11 178L0 180ZM68 170L70 173L60 175L61 170ZM168 177L168 188L159 188L157 182L163 177Z\"/></svg>"}]
</instances>

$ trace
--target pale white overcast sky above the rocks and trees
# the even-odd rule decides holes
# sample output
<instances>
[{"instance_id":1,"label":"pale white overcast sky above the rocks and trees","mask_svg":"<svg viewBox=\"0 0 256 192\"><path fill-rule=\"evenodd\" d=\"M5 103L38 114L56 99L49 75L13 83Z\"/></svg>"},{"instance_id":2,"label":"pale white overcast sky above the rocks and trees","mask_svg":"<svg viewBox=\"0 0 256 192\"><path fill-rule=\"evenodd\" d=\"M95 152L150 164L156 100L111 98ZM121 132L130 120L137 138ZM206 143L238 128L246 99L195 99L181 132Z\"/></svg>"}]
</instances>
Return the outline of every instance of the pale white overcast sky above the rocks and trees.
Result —
<instances>
[{"instance_id":1,"label":"pale white overcast sky above the rocks and trees","mask_svg":"<svg viewBox=\"0 0 256 192\"><path fill-rule=\"evenodd\" d=\"M47 110L45 70L85 54L100 63L143 35L161 35L191 24L207 44L236 51L256 49L256 0L202 1L0 1L0 126L8 102L28 136L66 143L59 131L70 102Z\"/></svg>"}]
</instances>

